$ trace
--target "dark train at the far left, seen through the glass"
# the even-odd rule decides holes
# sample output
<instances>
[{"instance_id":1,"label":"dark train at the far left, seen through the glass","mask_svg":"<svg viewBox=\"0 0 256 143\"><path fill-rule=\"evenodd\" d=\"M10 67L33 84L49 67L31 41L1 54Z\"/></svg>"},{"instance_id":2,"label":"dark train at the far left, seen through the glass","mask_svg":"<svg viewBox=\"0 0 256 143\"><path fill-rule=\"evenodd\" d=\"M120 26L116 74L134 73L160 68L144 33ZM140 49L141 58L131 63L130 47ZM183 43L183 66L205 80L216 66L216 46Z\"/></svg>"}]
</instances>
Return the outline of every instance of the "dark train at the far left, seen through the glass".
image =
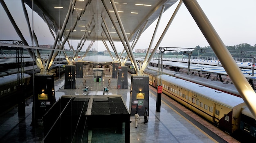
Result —
<instances>
[{"instance_id":1,"label":"dark train at the far left, seen through the glass","mask_svg":"<svg viewBox=\"0 0 256 143\"><path fill-rule=\"evenodd\" d=\"M65 64L52 65L48 71L54 77L65 72ZM20 101L33 95L33 74L39 69L26 67L24 73L17 73L16 69L2 70L0 76L0 114L6 112Z\"/></svg>"}]
</instances>

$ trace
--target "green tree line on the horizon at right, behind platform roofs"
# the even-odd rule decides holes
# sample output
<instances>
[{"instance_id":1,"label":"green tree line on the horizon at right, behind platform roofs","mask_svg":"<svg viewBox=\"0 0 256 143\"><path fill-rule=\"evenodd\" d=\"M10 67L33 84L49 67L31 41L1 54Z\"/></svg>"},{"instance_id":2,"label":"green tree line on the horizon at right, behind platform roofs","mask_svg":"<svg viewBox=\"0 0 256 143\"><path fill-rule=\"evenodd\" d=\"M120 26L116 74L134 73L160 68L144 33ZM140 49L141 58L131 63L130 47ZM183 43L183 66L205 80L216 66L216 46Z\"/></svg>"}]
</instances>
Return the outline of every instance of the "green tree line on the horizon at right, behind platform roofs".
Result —
<instances>
[{"instance_id":1,"label":"green tree line on the horizon at right, behind platform roofs","mask_svg":"<svg viewBox=\"0 0 256 143\"><path fill-rule=\"evenodd\" d=\"M239 45L226 46L226 47L233 57L248 58L248 57L256 56L256 44L252 46L247 43L241 43ZM180 54L183 54L183 52L167 52L166 54L180 55ZM198 45L192 51L192 56L215 56L216 57L216 54L213 52L211 46L200 47Z\"/></svg>"}]
</instances>

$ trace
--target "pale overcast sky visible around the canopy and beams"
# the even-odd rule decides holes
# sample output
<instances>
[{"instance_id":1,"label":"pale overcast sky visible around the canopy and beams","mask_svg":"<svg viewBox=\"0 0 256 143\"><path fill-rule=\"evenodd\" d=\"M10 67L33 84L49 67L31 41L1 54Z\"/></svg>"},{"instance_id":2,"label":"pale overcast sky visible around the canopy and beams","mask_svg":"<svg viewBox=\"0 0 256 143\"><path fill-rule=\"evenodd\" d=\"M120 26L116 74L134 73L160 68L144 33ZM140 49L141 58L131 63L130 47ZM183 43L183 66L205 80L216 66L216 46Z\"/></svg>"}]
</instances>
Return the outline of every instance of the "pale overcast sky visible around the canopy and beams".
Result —
<instances>
[{"instance_id":1,"label":"pale overcast sky visible around the canopy and beams","mask_svg":"<svg viewBox=\"0 0 256 143\"><path fill-rule=\"evenodd\" d=\"M5 2L11 12L20 11L20 13L23 13L20 0L5 0ZM178 2L164 13L153 47L155 47ZM225 45L237 45L240 43L256 44L256 0L198 0L198 3ZM36 17L37 14L35 13L34 15ZM0 6L0 17L0 39L19 40L2 6ZM13 14L13 17L17 21L25 20L24 17L17 14ZM53 45L53 37L49 32L45 32L48 31L48 28L45 24L42 24L43 20L40 17L35 19L34 30L36 33L40 32L37 35L39 44ZM148 48L156 22L144 31L135 49ZM26 22L19 23L19 26L27 27ZM25 32L27 28L21 30ZM74 47L76 47L77 43L77 41L72 41ZM31 45L31 41L29 45ZM116 42L115 45L118 47L118 52L123 50L121 42ZM182 4L159 46L195 48L197 45L200 47L209 46L189 11ZM98 46L98 51L106 50L101 41L97 42L96 46ZM110 45L109 48L111 48ZM67 46L66 49L68 49Z\"/></svg>"}]
</instances>

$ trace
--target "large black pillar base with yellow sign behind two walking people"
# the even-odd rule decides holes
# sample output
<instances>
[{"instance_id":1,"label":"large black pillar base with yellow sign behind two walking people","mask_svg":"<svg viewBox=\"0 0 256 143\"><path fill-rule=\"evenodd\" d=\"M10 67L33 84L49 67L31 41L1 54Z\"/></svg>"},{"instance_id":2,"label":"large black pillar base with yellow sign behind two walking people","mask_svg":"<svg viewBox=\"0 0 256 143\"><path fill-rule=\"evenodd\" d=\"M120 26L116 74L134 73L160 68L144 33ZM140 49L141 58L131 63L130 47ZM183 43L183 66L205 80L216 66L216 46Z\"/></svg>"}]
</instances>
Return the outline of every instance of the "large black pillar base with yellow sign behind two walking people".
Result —
<instances>
[{"instance_id":1,"label":"large black pillar base with yellow sign behind two walking people","mask_svg":"<svg viewBox=\"0 0 256 143\"><path fill-rule=\"evenodd\" d=\"M132 76L131 78L131 116L134 116L138 111L139 116L143 117L145 107L149 111L148 81L148 76Z\"/></svg>"}]
</instances>

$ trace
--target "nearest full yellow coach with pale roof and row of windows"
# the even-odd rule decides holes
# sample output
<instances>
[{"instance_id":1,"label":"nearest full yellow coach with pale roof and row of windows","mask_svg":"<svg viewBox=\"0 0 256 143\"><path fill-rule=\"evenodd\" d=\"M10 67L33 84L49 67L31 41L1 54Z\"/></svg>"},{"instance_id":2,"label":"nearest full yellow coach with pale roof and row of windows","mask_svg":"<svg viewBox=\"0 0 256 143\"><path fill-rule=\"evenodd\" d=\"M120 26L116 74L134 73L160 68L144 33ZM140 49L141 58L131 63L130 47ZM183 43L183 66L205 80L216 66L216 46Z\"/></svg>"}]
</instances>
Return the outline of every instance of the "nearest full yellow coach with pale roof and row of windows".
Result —
<instances>
[{"instance_id":1,"label":"nearest full yellow coach with pale roof and row of windows","mask_svg":"<svg viewBox=\"0 0 256 143\"><path fill-rule=\"evenodd\" d=\"M246 107L242 98L168 75L162 76L162 86L163 93L220 129L239 130L241 108Z\"/></svg>"}]
</instances>

